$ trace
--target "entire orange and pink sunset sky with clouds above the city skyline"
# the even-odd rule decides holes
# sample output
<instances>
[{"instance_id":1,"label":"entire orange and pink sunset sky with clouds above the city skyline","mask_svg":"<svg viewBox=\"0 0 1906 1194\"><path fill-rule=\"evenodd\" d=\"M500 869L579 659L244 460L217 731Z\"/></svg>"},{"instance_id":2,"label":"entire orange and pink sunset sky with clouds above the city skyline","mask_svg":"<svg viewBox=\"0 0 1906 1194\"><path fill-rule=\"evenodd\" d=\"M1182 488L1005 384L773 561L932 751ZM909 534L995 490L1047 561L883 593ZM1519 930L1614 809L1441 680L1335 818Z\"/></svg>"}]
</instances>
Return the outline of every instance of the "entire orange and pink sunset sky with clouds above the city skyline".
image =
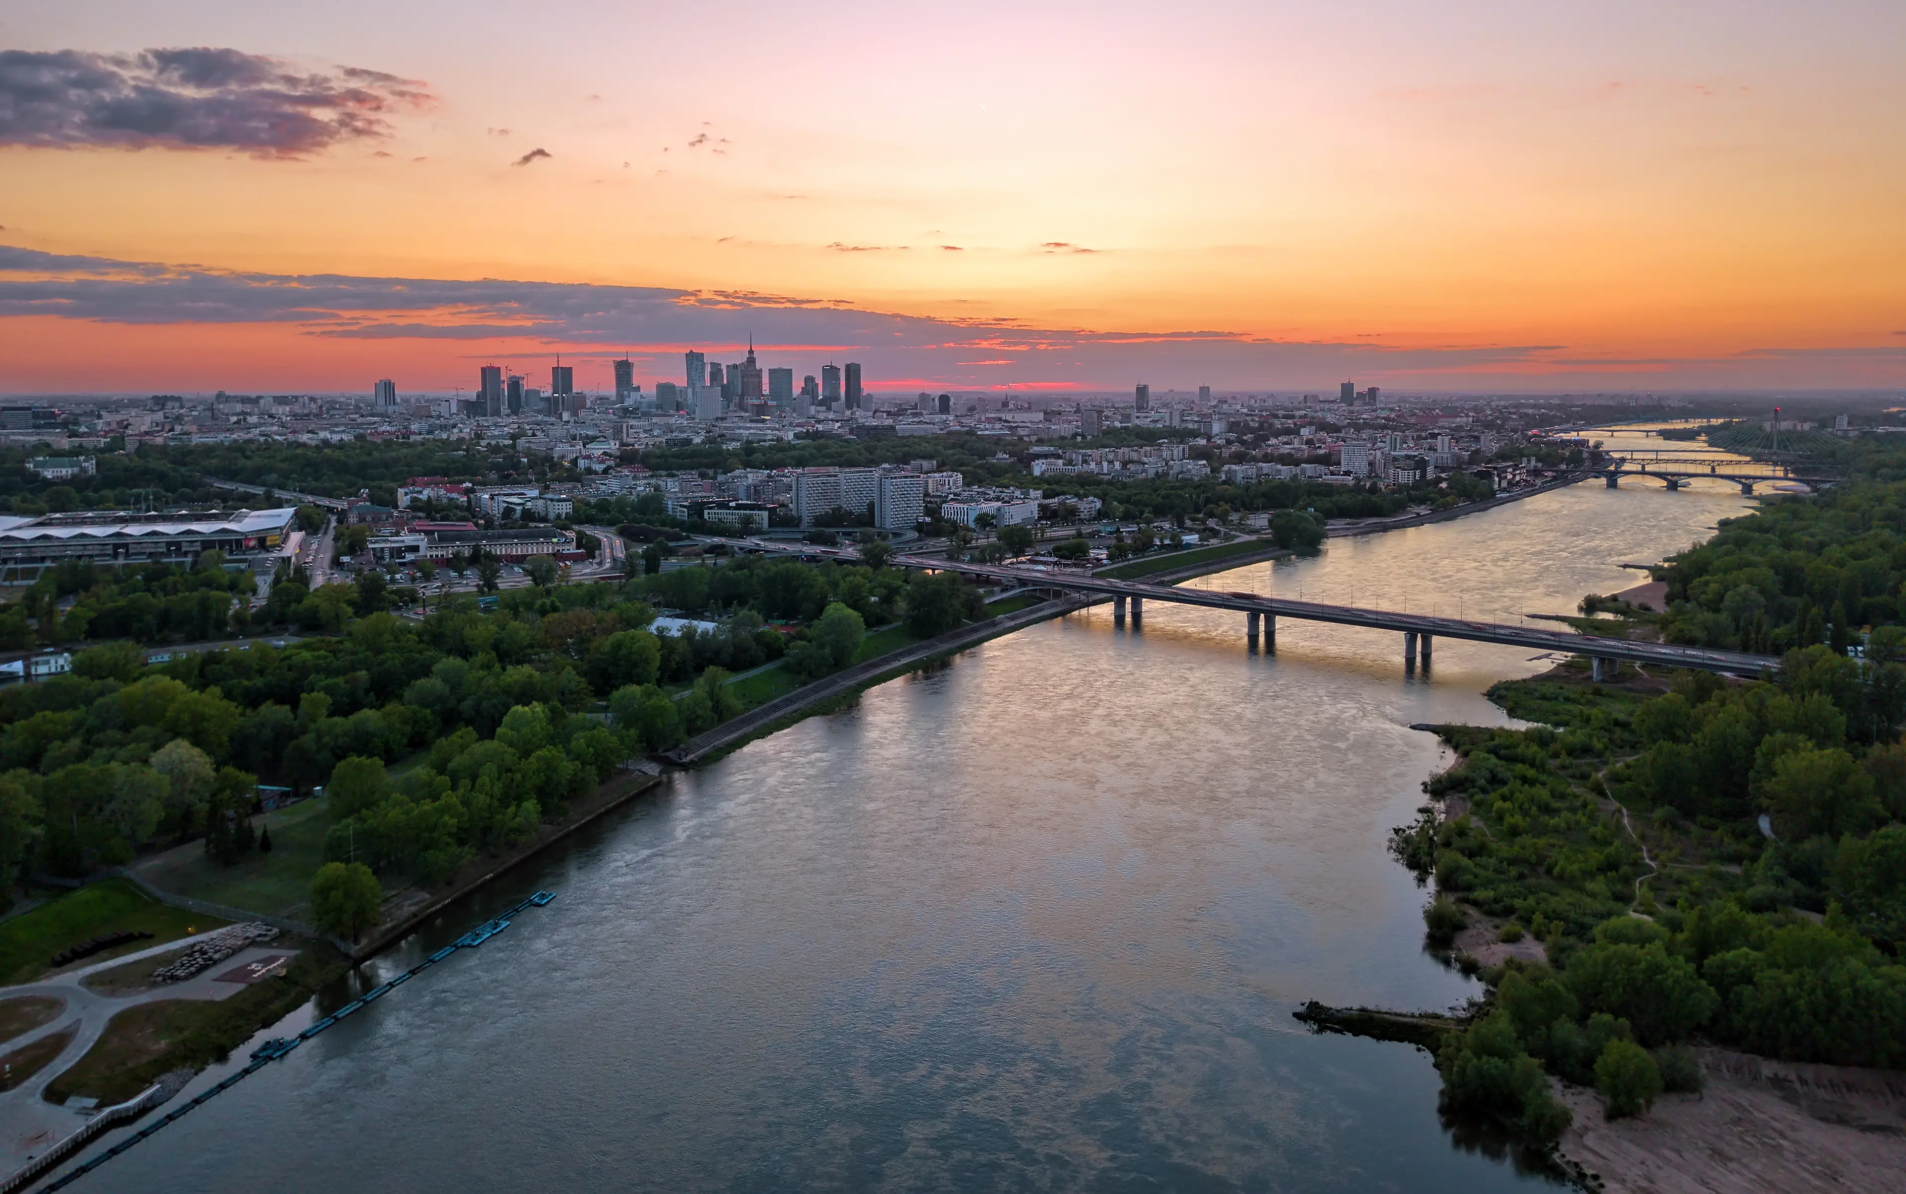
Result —
<instances>
[{"instance_id":1,"label":"entire orange and pink sunset sky with clouds above the city skyline","mask_svg":"<svg viewBox=\"0 0 1906 1194\"><path fill-rule=\"evenodd\" d=\"M871 388L1898 388L1902 51L1896 0L15 0L0 390L749 335Z\"/></svg>"}]
</instances>

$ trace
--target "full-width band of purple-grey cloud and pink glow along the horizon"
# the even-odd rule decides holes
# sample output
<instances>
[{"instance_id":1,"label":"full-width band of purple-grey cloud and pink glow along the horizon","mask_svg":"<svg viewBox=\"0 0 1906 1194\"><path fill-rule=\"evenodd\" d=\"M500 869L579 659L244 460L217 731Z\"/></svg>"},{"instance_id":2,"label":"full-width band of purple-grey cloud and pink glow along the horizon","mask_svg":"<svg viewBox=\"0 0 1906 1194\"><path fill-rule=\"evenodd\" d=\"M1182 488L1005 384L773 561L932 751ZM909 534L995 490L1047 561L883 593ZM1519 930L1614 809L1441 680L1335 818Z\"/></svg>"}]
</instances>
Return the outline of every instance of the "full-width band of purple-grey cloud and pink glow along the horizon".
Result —
<instances>
[{"instance_id":1,"label":"full-width band of purple-grey cloud and pink glow along the horizon","mask_svg":"<svg viewBox=\"0 0 1906 1194\"><path fill-rule=\"evenodd\" d=\"M1321 388L1336 379L1430 390L1662 388L1656 377L1708 387L1832 388L1906 381L1906 347L1750 348L1719 358L1597 358L1567 345L1386 347L1306 343L1233 331L1090 331L1012 320L943 320L863 310L825 299L515 280L263 274L0 246L0 324L57 318L99 326L276 328L305 345L375 341L393 354L442 356L446 341L482 356L633 350L658 377L684 348L743 345L797 377L827 360L862 360L879 377L951 388ZM408 341L406 348L400 348ZM309 352L307 352L309 356ZM320 352L322 356L322 352ZM358 352L360 356L360 352ZM679 356L675 356L679 360ZM1813 371L1815 381L1807 371ZM475 366L471 368L475 373ZM145 383L168 385L154 377ZM244 379L233 379L242 388ZM894 383L898 385L898 383ZM143 387L132 387L143 388ZM314 387L324 388L324 387Z\"/></svg>"}]
</instances>

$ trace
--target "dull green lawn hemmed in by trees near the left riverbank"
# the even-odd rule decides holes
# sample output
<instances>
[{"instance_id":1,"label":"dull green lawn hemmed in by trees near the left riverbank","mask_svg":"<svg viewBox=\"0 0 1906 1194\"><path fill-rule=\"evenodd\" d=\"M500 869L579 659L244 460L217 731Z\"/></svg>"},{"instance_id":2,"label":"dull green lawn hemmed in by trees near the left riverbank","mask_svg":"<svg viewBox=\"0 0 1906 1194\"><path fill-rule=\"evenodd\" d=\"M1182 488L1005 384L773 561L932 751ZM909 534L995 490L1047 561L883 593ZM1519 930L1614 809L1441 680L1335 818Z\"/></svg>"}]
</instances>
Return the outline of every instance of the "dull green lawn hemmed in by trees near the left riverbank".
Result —
<instances>
[{"instance_id":1,"label":"dull green lawn hemmed in by trees near the left riverbank","mask_svg":"<svg viewBox=\"0 0 1906 1194\"><path fill-rule=\"evenodd\" d=\"M297 918L311 876L324 865L324 834L332 807L324 798L301 800L257 819L271 830L271 853L252 851L231 866L206 857L200 842L139 863L139 878L160 891L189 895L229 908Z\"/></svg>"}]
</instances>

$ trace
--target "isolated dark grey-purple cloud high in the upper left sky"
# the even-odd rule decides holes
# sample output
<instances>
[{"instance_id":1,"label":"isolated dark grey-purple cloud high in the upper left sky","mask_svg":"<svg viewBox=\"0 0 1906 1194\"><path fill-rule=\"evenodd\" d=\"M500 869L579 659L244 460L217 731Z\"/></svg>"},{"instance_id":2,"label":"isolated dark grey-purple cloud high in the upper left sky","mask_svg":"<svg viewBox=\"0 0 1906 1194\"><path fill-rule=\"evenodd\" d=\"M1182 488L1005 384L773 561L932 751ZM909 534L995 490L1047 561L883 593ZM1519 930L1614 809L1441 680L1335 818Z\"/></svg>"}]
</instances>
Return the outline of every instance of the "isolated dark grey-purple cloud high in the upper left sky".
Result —
<instances>
[{"instance_id":1,"label":"isolated dark grey-purple cloud high in the upper left sky","mask_svg":"<svg viewBox=\"0 0 1906 1194\"><path fill-rule=\"evenodd\" d=\"M0 51L0 145L234 149L295 158L383 137L429 88L381 70L303 74L240 50Z\"/></svg>"}]
</instances>

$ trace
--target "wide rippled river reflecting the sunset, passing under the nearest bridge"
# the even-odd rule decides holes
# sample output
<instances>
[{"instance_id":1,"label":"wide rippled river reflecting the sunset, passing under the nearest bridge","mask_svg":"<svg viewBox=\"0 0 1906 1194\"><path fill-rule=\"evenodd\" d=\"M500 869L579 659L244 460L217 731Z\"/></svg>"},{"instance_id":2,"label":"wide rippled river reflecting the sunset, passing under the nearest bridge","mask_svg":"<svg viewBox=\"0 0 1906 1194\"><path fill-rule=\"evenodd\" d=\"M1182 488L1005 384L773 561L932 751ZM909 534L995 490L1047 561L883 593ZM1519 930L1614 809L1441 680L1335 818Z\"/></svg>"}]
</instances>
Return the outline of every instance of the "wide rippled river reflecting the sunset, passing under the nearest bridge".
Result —
<instances>
[{"instance_id":1,"label":"wide rippled river reflecting the sunset, passing under the nearest bridge","mask_svg":"<svg viewBox=\"0 0 1906 1194\"><path fill-rule=\"evenodd\" d=\"M1744 508L1592 482L1195 583L1565 613ZM989 642L675 775L366 969L553 905L72 1188L1546 1186L1439 1122L1422 1051L1290 1019L1479 990L1384 844L1441 760L1409 726L1500 724L1481 691L1546 667L1439 642L1410 678L1294 621L1250 655L1174 606Z\"/></svg>"}]
</instances>

